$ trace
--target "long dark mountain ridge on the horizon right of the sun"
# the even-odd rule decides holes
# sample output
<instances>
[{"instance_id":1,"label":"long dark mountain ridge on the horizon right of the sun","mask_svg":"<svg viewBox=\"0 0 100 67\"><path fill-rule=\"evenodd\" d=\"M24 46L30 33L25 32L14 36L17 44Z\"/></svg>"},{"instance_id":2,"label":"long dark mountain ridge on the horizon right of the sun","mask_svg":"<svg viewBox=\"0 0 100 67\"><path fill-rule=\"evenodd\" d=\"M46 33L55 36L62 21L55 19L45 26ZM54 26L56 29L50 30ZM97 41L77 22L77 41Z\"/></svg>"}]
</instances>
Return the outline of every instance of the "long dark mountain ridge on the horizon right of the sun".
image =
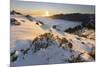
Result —
<instances>
[{"instance_id":1,"label":"long dark mountain ridge on the horizon right of the sun","mask_svg":"<svg viewBox=\"0 0 100 67\"><path fill-rule=\"evenodd\" d=\"M95 20L95 14L81 14L81 13L72 13L72 14L56 14L51 16L53 19L63 19L71 21L82 21L87 22L91 18Z\"/></svg>"}]
</instances>

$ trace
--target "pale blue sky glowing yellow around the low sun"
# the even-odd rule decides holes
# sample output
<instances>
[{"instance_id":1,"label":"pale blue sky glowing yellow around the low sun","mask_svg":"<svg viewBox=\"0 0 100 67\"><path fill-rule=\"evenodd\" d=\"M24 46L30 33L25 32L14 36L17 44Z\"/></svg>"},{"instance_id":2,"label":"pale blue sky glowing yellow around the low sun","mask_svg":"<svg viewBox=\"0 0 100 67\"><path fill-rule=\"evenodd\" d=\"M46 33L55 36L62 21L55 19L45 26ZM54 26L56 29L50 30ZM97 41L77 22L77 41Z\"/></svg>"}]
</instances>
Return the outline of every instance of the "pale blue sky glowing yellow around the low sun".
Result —
<instances>
[{"instance_id":1,"label":"pale blue sky glowing yellow around the low sun","mask_svg":"<svg viewBox=\"0 0 100 67\"><path fill-rule=\"evenodd\" d=\"M16 10L33 16L68 14L68 13L95 13L93 5L75 5L46 2L30 2L11 0L11 11Z\"/></svg>"}]
</instances>

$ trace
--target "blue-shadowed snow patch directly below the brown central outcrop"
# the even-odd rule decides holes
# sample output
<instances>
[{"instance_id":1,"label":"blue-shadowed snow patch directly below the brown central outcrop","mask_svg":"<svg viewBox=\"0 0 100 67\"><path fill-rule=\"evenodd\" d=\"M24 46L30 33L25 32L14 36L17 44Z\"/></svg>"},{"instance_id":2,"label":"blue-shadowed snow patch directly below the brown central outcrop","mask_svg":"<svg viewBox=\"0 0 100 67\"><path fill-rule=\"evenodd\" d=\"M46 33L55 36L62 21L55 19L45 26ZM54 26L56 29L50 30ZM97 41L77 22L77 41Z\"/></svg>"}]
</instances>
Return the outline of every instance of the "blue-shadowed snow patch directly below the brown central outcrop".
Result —
<instances>
[{"instance_id":1,"label":"blue-shadowed snow patch directly below the brown central outcrop","mask_svg":"<svg viewBox=\"0 0 100 67\"><path fill-rule=\"evenodd\" d=\"M21 58L18 59L14 65L63 63L63 59L70 58L71 56L69 51L64 51L62 48L55 46L50 46L48 49L41 49L34 54L31 52L24 56L24 60L21 60Z\"/></svg>"}]
</instances>

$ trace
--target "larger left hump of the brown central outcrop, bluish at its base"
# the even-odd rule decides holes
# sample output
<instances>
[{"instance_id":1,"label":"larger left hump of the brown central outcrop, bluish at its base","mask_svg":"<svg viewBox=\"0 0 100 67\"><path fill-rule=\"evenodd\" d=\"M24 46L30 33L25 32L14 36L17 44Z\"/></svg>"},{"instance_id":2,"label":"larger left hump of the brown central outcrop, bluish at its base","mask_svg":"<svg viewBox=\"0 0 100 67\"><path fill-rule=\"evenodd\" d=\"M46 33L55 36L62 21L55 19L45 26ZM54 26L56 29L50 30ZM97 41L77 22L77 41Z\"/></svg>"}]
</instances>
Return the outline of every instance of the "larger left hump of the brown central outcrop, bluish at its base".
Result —
<instances>
[{"instance_id":1,"label":"larger left hump of the brown central outcrop, bluish at its base","mask_svg":"<svg viewBox=\"0 0 100 67\"><path fill-rule=\"evenodd\" d=\"M52 37L53 35L51 33L45 33L39 37L36 37L32 42L32 45L34 46L34 52L40 49L46 49L48 46L50 46L54 41L52 40Z\"/></svg>"}]
</instances>

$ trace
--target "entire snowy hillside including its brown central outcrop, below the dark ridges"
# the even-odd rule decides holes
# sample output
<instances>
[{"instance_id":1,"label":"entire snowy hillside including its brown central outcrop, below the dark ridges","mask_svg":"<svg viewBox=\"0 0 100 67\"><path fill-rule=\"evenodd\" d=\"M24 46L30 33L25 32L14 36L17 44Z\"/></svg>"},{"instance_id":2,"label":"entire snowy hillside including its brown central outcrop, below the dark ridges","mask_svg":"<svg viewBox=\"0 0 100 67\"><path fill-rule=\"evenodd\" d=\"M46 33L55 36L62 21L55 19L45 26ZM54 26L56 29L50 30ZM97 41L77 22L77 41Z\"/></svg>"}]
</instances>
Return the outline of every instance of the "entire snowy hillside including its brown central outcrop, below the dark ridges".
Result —
<instances>
[{"instance_id":1,"label":"entire snowy hillside including its brown central outcrop, below the dark ridges","mask_svg":"<svg viewBox=\"0 0 100 67\"><path fill-rule=\"evenodd\" d=\"M65 29L80 25L81 22L40 17L29 21L25 16L19 15L12 15L11 18L21 23L11 25L12 67L95 60L95 40L64 32ZM38 25L39 21L43 24ZM54 25L56 29L53 28ZM91 31L87 30L83 34L88 32ZM89 36L93 34L94 32Z\"/></svg>"}]
</instances>

